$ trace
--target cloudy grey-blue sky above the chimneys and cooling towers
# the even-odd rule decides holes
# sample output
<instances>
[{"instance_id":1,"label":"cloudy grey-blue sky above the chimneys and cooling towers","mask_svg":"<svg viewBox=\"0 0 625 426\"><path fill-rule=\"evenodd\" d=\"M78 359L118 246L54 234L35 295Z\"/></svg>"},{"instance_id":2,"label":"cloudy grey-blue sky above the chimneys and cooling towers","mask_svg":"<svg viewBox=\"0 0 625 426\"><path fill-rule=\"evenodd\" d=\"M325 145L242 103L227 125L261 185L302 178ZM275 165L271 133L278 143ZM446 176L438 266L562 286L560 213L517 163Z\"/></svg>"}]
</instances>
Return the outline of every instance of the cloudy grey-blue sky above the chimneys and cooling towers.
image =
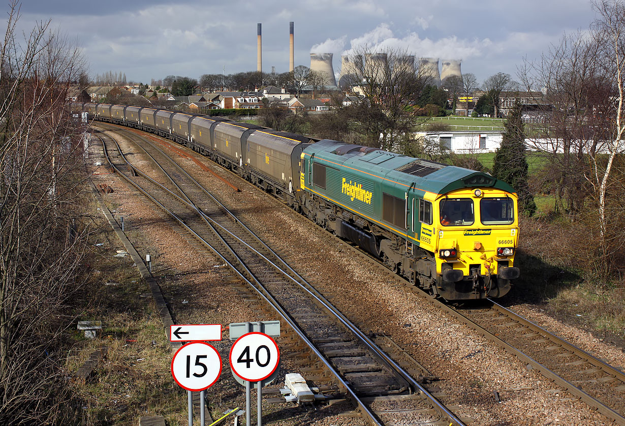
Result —
<instances>
[{"instance_id":1,"label":"cloudy grey-blue sky above the chimneys and cooling towers","mask_svg":"<svg viewBox=\"0 0 625 426\"><path fill-rule=\"evenodd\" d=\"M296 66L310 66L311 52L334 53L339 74L341 54L367 44L462 59L462 73L480 83L497 72L517 79L524 58L595 16L589 0L22 0L20 12L22 31L51 20L76 38L91 76L121 71L143 83L256 71L257 23L262 70L288 71L290 21Z\"/></svg>"}]
</instances>

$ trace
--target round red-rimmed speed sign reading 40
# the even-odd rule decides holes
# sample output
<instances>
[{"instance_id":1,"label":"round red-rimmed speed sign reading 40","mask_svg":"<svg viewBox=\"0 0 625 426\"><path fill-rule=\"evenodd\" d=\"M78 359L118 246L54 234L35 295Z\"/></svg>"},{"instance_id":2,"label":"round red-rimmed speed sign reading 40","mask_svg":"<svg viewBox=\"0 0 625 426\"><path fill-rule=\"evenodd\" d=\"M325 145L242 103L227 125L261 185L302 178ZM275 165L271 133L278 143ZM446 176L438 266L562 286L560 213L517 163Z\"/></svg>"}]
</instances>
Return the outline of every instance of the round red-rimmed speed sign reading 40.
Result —
<instances>
[{"instance_id":1,"label":"round red-rimmed speed sign reading 40","mask_svg":"<svg viewBox=\"0 0 625 426\"><path fill-rule=\"evenodd\" d=\"M264 333L244 334L230 349L232 372L247 382L260 382L271 376L279 360L276 342Z\"/></svg>"}]
</instances>

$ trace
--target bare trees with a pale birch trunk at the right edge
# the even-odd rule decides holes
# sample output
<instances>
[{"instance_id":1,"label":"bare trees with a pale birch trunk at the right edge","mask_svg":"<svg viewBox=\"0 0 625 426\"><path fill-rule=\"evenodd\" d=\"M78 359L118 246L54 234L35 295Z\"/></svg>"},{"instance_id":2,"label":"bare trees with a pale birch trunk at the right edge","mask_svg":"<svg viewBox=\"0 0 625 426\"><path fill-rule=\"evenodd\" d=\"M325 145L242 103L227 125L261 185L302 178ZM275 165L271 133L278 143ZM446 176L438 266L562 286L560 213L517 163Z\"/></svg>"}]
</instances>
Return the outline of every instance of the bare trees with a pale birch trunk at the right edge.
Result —
<instances>
[{"instance_id":1,"label":"bare trees with a pale birch trunk at the right edge","mask_svg":"<svg viewBox=\"0 0 625 426\"><path fill-rule=\"evenodd\" d=\"M592 6L597 18L589 31L563 36L540 63L526 64L522 81L546 93L545 123L532 148L549 161L544 178L556 208L573 220L590 209L594 220L588 223L598 224L598 265L605 270L624 240L616 201L622 183L613 175L625 148L625 5L597 0ZM607 196L610 188L616 197Z\"/></svg>"}]
</instances>

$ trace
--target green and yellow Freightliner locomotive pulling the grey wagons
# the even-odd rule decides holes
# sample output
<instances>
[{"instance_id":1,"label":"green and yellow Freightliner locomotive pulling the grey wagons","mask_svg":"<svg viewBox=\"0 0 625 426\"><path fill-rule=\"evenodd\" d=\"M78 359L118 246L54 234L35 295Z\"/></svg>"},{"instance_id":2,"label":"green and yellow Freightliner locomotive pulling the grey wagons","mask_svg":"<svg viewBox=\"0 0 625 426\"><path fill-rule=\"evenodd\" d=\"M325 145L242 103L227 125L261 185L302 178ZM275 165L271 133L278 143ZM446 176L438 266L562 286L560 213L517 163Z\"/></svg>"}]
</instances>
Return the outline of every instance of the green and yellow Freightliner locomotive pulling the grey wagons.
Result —
<instances>
[{"instance_id":1,"label":"green and yellow Freightliner locomotive pulling the grey wagons","mask_svg":"<svg viewBox=\"0 0 625 426\"><path fill-rule=\"evenodd\" d=\"M319 141L302 152L302 210L446 300L501 297L517 246L517 196L474 170Z\"/></svg>"}]
</instances>

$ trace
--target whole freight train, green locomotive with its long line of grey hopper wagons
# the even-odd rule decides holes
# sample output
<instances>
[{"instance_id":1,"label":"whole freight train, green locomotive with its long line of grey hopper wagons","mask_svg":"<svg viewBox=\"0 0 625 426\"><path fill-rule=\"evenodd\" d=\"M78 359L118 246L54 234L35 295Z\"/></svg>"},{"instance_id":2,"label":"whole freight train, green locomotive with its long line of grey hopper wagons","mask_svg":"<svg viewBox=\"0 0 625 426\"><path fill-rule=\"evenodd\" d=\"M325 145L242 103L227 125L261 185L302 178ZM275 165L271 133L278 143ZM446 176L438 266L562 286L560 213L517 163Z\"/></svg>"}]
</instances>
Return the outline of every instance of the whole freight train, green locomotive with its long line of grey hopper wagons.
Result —
<instances>
[{"instance_id":1,"label":"whole freight train, green locomotive with its long line of grey hopper wagons","mask_svg":"<svg viewBox=\"0 0 625 426\"><path fill-rule=\"evenodd\" d=\"M201 153L448 301L518 278L517 195L486 173L167 109L73 104Z\"/></svg>"}]
</instances>

